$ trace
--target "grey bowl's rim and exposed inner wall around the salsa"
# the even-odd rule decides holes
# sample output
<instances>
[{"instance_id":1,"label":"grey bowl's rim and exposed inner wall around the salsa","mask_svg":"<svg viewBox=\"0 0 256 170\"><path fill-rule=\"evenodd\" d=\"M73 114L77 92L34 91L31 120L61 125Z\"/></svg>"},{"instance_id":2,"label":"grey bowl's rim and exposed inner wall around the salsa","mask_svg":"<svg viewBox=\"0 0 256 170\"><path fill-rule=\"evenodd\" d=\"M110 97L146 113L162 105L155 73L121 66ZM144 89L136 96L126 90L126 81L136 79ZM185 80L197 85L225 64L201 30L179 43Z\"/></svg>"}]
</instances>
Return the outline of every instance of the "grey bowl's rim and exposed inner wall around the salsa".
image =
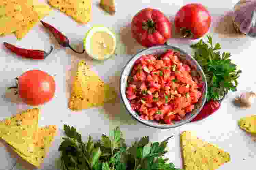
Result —
<instances>
[{"instance_id":1,"label":"grey bowl's rim and exposed inner wall around the salsa","mask_svg":"<svg viewBox=\"0 0 256 170\"><path fill-rule=\"evenodd\" d=\"M162 124L155 120L144 120L144 119L140 118L138 113L132 110L130 102L126 97L127 79L128 79L128 76L130 75L130 72L133 68L134 62L136 60L138 60L138 58L140 58L142 55L162 54L162 53L166 52L166 50L168 50L168 49L172 49L174 51L180 52L180 54L181 54L180 60L183 63L186 63L187 65L189 65L191 68L194 68L197 71L198 76L201 77L202 82L204 82L204 86L202 88L202 97L199 99L198 103L195 104L195 108L193 109L193 111L191 113L187 113L186 116L182 120L175 121L174 124L172 124L172 125ZM207 81L206 81L206 78L205 78L205 75L203 73L201 66L197 63L197 61L193 57L191 57L185 51L183 51L177 47L168 46L168 45L154 46L154 47L140 51L139 53L134 55L131 58L131 60L126 64L126 66L124 67L123 72L121 74L121 78L120 78L120 94L121 94L122 101L123 101L127 111L137 121L139 121L147 126L151 126L153 128L170 129L170 128L176 128L176 127L181 126L187 122L190 122L193 118L195 118L199 114L199 112L201 111L201 109L206 101Z\"/></svg>"}]
</instances>

